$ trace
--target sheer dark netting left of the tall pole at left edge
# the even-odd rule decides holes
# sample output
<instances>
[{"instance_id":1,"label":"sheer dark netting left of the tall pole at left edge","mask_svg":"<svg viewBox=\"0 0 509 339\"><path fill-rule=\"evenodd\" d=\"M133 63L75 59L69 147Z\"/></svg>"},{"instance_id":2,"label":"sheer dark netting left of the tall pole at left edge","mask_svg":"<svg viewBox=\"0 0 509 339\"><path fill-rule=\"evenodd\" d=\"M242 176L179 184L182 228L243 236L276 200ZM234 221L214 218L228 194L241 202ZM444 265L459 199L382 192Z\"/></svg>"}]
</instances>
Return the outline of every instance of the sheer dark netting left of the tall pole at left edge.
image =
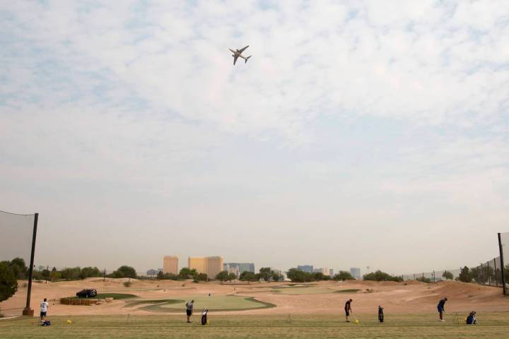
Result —
<instances>
[{"instance_id":1,"label":"sheer dark netting left of the tall pole at left edge","mask_svg":"<svg viewBox=\"0 0 509 339\"><path fill-rule=\"evenodd\" d=\"M6 263L18 278L16 294L0 302L0 313L4 316L21 315L25 308L34 220L33 214L0 211L0 261Z\"/></svg>"}]
</instances>

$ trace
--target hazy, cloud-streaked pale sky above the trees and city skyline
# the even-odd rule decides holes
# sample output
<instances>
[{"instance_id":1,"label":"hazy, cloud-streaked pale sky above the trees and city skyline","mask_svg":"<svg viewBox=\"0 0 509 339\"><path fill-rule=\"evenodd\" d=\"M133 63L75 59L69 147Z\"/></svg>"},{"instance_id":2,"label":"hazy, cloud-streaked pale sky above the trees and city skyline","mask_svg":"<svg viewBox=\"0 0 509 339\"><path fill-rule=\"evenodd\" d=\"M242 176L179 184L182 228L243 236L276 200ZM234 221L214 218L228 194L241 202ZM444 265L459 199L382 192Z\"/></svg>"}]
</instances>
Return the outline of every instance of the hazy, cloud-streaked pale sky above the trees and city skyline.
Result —
<instances>
[{"instance_id":1,"label":"hazy, cloud-streaked pale sky above the trees and city skyline","mask_svg":"<svg viewBox=\"0 0 509 339\"><path fill-rule=\"evenodd\" d=\"M505 0L1 2L0 210L40 213L38 264L413 273L509 231Z\"/></svg>"}]
</instances>

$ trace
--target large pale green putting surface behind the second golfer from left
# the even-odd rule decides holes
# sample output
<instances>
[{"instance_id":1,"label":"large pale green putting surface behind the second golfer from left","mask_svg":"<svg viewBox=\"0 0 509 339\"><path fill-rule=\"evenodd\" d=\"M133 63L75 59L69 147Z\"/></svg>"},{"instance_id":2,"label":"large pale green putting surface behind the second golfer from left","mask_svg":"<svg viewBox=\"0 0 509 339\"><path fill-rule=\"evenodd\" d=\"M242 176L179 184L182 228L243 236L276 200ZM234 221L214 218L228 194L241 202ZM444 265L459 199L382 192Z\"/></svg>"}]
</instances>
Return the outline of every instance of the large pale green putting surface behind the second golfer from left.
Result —
<instances>
[{"instance_id":1,"label":"large pale green putting surface behind the second golfer from left","mask_svg":"<svg viewBox=\"0 0 509 339\"><path fill-rule=\"evenodd\" d=\"M175 299L163 300L137 300L135 304L127 304L126 306L136 306L141 304L149 304L141 307L146 311L157 312L184 312L185 304L190 300L194 300L194 311L201 311L206 308L210 311L242 311L247 309L266 309L275 307L274 304L260 302L252 297L240 297L237 295L216 295L209 297L208 295L190 295L186 297L176 297Z\"/></svg>"}]
</instances>

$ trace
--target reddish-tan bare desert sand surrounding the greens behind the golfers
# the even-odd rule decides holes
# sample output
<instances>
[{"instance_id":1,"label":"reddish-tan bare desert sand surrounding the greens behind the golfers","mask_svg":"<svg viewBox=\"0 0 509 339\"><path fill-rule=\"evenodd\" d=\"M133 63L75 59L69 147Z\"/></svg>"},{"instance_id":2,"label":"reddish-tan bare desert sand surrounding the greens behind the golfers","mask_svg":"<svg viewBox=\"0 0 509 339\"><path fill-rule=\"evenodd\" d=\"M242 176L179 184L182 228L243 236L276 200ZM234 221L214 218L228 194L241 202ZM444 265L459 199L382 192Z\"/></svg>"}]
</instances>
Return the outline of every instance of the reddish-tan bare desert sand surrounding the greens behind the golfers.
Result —
<instances>
[{"instance_id":1,"label":"reddish-tan bare desert sand surrounding the greens behind the golfers","mask_svg":"<svg viewBox=\"0 0 509 339\"><path fill-rule=\"evenodd\" d=\"M436 304L447 297L445 309L455 311L509 311L509 298L503 297L500 287L476 285L474 283L441 282L435 284L407 281L393 282L321 282L307 288L286 287L288 283L192 283L172 280L132 280L131 287L124 287L126 279L89 278L80 281L58 283L34 283L31 307L38 312L43 298L50 301L49 315L86 314L161 314L140 307L126 307L129 299L114 300L93 306L71 306L59 304L59 298L72 297L83 288L95 288L99 293L130 293L141 299L187 299L193 295L239 295L254 297L262 302L275 304L268 309L247 311L216 311L216 314L343 314L344 302L352 298L352 308L358 314L374 313L378 305L392 313L430 313L436 311ZM303 284L307 285L307 284ZM275 287L275 288L274 288ZM280 288L281 287L281 288ZM276 290L279 289L279 290ZM0 304L2 309L23 304L26 288ZM357 292L334 292L337 290L358 290ZM293 294L296 291L296 294ZM146 305L145 305L146 306ZM184 309L182 309L182 312Z\"/></svg>"}]
</instances>

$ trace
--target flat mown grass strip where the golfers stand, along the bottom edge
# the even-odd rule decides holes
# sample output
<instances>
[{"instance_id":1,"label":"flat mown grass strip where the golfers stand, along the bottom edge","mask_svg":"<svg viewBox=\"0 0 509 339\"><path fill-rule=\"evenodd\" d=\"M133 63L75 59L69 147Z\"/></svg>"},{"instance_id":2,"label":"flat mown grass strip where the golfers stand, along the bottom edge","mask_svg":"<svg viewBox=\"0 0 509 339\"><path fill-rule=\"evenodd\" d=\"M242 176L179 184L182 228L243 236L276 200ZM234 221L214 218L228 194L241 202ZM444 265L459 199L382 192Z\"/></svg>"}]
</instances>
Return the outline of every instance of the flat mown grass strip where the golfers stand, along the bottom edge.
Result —
<instances>
[{"instance_id":1,"label":"flat mown grass strip where the golfers stand, along the bottom edge","mask_svg":"<svg viewBox=\"0 0 509 339\"><path fill-rule=\"evenodd\" d=\"M197 312L198 314L198 312ZM52 326L37 326L36 318L0 321L0 338L508 338L509 314L478 314L478 325L437 321L436 314L360 315L361 323L345 323L337 316L249 316L209 314L210 324L201 326L182 316L54 316ZM66 323L71 319L72 323Z\"/></svg>"}]
</instances>

